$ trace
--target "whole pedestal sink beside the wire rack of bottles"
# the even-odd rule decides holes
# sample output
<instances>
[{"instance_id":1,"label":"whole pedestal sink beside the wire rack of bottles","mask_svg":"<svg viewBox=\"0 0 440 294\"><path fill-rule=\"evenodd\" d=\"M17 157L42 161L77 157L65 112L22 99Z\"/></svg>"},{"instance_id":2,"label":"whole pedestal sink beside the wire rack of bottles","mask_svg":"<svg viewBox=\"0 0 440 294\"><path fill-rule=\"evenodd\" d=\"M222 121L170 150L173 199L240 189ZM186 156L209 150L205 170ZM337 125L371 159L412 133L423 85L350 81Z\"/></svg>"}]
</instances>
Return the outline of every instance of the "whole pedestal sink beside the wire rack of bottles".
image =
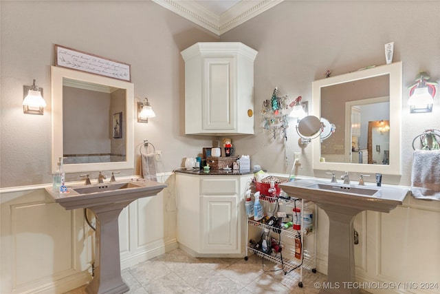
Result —
<instances>
[{"instance_id":1,"label":"whole pedestal sink beside the wire rack of bottles","mask_svg":"<svg viewBox=\"0 0 440 294\"><path fill-rule=\"evenodd\" d=\"M360 293L351 286L355 282L353 220L364 210L388 213L402 204L408 189L343 185L316 179L287 182L278 187L291 197L314 202L329 216L330 289L322 289L320 293Z\"/></svg>"}]
</instances>

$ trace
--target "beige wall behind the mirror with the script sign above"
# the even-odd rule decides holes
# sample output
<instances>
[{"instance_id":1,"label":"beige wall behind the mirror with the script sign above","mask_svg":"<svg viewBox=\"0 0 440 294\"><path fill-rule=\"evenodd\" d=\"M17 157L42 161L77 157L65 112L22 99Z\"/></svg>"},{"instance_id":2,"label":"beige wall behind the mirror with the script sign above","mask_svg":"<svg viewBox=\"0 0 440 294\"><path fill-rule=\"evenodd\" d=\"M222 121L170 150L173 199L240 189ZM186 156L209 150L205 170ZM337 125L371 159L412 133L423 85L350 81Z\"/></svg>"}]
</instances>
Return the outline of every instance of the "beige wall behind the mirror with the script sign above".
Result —
<instances>
[{"instance_id":1,"label":"beige wall behind the mirror with the script sign above","mask_svg":"<svg viewBox=\"0 0 440 294\"><path fill-rule=\"evenodd\" d=\"M209 137L184 135L180 51L197 41L219 41L218 36L151 1L0 1L0 9L0 187L52 182L54 44L131 64L135 101L148 97L157 115L148 124L135 122L135 154L148 139L162 151L159 172L179 167L181 158L211 145ZM23 114L23 85L33 78L48 104L43 116ZM126 170L121 176L136 173ZM79 179L77 174L66 178Z\"/></svg>"}]
</instances>

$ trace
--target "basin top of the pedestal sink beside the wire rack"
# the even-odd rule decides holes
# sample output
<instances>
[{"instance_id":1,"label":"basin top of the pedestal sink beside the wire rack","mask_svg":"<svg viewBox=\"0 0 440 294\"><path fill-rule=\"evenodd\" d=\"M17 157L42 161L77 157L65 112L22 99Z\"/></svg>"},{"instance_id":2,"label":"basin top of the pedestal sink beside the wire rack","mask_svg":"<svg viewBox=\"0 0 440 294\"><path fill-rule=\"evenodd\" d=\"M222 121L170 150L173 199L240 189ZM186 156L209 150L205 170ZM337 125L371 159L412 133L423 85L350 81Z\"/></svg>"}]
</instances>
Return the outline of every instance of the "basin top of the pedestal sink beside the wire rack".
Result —
<instances>
[{"instance_id":1,"label":"basin top of the pedestal sink beside the wire rack","mask_svg":"<svg viewBox=\"0 0 440 294\"><path fill-rule=\"evenodd\" d=\"M331 204L360 211L391 211L402 204L408 193L408 189L402 187L344 185L320 179L287 182L279 187L289 196L310 200L318 205Z\"/></svg>"}]
</instances>

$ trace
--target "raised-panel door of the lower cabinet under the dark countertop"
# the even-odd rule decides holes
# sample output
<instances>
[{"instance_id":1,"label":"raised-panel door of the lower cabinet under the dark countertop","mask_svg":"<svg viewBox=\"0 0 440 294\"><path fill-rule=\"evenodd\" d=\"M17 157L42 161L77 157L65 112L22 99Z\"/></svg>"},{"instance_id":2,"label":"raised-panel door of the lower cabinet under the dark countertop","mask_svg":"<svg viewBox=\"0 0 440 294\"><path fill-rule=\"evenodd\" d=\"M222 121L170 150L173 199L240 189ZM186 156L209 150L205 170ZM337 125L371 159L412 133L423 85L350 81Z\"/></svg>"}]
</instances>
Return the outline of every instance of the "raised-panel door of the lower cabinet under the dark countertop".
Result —
<instances>
[{"instance_id":1,"label":"raised-panel door of the lower cabinet under the dark countertop","mask_svg":"<svg viewBox=\"0 0 440 294\"><path fill-rule=\"evenodd\" d=\"M240 253L236 196L202 196L201 253Z\"/></svg>"}]
</instances>

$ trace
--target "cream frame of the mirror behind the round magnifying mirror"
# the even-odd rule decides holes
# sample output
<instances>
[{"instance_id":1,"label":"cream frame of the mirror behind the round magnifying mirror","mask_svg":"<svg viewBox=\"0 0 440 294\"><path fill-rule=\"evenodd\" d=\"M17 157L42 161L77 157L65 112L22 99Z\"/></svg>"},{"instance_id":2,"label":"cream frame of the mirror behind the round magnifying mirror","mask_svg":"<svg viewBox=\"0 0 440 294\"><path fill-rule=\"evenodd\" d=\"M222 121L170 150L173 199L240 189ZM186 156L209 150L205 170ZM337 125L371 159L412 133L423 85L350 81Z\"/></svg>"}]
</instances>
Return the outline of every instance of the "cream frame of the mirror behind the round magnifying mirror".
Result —
<instances>
[{"instance_id":1,"label":"cream frame of the mirror behind the round magnifying mirror","mask_svg":"<svg viewBox=\"0 0 440 294\"><path fill-rule=\"evenodd\" d=\"M320 117L321 114L321 88L341 83L349 83L365 78L383 76L389 74L390 78L390 164L389 165L365 165L358 163L345 162L320 162L321 150L320 140L312 141L313 168L330 171L352 171L369 174L401 174L401 99L402 99L402 63L391 63L389 65L380 65L367 70L350 72L340 76L332 76L312 83L312 103L313 114ZM342 130L342 132L344 132Z\"/></svg>"}]
</instances>

